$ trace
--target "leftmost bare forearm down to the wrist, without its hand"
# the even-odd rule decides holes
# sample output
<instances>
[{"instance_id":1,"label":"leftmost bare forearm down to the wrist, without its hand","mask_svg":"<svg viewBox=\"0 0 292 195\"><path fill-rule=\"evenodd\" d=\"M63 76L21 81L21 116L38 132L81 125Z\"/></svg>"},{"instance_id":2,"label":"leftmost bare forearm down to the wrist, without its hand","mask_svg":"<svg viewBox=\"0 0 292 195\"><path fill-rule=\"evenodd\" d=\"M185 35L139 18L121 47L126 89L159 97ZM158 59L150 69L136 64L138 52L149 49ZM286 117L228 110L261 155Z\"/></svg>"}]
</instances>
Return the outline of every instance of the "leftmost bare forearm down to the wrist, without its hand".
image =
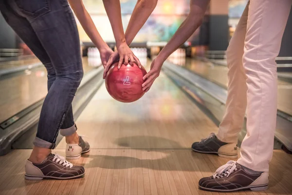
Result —
<instances>
[{"instance_id":1,"label":"leftmost bare forearm down to the wrist, without its hand","mask_svg":"<svg viewBox=\"0 0 292 195\"><path fill-rule=\"evenodd\" d=\"M100 34L98 33L91 16L85 9L81 0L68 0L77 19L81 23L83 29L85 30L88 37L91 41L96 45L96 47L100 50L103 47L107 47L107 43L102 39Z\"/></svg>"}]
</instances>

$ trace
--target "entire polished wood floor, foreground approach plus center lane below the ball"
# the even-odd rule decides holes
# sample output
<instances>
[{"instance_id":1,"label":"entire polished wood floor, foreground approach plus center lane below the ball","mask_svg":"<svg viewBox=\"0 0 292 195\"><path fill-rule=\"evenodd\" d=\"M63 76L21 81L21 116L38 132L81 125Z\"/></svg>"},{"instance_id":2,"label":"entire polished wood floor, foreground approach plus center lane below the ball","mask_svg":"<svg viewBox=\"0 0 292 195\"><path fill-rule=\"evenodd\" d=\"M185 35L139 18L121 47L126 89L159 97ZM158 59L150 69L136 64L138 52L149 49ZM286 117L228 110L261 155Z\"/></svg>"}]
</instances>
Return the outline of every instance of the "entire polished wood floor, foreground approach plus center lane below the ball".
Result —
<instances>
[{"instance_id":1,"label":"entire polished wood floor, foreground approach plus center lane below the ball","mask_svg":"<svg viewBox=\"0 0 292 195\"><path fill-rule=\"evenodd\" d=\"M76 120L91 151L72 162L86 174L72 180L24 179L31 150L0 156L0 195L219 195L198 189L230 159L192 152L215 124L163 74L133 103L113 100L103 85ZM65 155L63 139L54 150ZM270 188L232 195L291 195L292 156L274 151ZM226 194L227 195L227 194Z\"/></svg>"}]
</instances>

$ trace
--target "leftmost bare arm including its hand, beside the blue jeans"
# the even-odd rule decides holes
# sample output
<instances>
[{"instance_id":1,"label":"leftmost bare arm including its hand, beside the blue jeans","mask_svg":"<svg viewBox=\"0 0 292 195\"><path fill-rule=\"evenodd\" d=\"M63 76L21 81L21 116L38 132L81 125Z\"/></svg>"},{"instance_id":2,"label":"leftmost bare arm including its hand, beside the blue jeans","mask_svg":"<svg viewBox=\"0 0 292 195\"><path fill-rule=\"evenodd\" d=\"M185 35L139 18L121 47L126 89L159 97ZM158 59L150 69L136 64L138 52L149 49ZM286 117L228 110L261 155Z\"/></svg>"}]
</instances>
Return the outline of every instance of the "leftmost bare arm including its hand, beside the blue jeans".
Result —
<instances>
[{"instance_id":1,"label":"leftmost bare arm including its hand, beside the blue jeans","mask_svg":"<svg viewBox=\"0 0 292 195\"><path fill-rule=\"evenodd\" d=\"M84 7L82 0L68 0L68 2L70 3L77 19L80 21L86 34L98 48L102 64L105 66L113 51L110 49L107 43L101 38L89 13Z\"/></svg>"}]
</instances>

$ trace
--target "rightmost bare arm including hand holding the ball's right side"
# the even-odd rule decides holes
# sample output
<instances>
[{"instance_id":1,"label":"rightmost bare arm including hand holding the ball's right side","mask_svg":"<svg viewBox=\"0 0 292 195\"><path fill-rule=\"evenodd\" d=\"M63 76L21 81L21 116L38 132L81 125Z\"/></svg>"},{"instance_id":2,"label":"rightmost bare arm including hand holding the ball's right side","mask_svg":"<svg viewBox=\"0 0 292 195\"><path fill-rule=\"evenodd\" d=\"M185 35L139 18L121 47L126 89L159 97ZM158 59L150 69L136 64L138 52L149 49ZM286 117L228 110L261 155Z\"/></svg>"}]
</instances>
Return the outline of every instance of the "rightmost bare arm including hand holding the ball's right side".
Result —
<instances>
[{"instance_id":1,"label":"rightmost bare arm including hand holding the ball's right side","mask_svg":"<svg viewBox=\"0 0 292 195\"><path fill-rule=\"evenodd\" d=\"M201 25L210 0L191 0L190 13L179 29L151 63L151 70L144 76L147 80L142 84L144 91L148 91L154 80L159 76L164 61L178 49Z\"/></svg>"}]
</instances>

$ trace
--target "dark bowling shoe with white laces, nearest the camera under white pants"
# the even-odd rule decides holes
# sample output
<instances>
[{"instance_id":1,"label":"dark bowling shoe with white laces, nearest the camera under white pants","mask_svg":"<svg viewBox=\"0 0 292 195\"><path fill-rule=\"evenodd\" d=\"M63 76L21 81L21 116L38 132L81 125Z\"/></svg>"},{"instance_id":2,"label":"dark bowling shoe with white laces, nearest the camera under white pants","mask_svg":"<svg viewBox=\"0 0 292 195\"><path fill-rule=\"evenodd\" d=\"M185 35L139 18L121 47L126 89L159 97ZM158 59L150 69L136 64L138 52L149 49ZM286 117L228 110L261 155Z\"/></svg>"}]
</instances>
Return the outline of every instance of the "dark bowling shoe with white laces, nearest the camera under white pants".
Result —
<instances>
[{"instance_id":1,"label":"dark bowling shoe with white laces, nearest the camera under white pants","mask_svg":"<svg viewBox=\"0 0 292 195\"><path fill-rule=\"evenodd\" d=\"M214 192L267 190L269 172L253 172L255 171L246 171L244 167L236 163L236 161L230 160L227 164L219 167L213 176L201 178L199 181L199 188Z\"/></svg>"}]
</instances>

